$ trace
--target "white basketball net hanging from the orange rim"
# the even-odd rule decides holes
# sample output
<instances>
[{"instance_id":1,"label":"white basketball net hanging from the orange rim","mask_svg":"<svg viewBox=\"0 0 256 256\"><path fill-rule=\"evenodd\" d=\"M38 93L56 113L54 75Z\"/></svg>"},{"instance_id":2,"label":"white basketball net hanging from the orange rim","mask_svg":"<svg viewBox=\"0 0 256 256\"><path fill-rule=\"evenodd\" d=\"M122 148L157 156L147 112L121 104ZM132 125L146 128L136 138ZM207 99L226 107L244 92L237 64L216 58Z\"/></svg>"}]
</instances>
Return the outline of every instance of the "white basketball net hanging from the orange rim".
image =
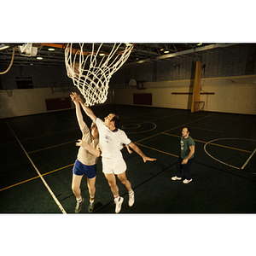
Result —
<instances>
[{"instance_id":1,"label":"white basketball net hanging from the orange rim","mask_svg":"<svg viewBox=\"0 0 256 256\"><path fill-rule=\"evenodd\" d=\"M67 76L84 96L85 105L106 102L108 83L131 54L132 44L67 44ZM110 49L110 50L109 50ZM108 52L108 54L106 54Z\"/></svg>"}]
</instances>

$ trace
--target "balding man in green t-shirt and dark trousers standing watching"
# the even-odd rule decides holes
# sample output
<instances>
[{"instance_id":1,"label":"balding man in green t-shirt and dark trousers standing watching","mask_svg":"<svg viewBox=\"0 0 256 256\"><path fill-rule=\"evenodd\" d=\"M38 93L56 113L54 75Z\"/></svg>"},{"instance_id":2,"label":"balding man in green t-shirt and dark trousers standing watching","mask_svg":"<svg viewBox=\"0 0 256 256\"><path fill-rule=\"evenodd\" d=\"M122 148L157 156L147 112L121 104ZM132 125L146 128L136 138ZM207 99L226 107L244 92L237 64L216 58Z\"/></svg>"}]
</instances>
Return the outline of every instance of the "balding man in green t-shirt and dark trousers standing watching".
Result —
<instances>
[{"instance_id":1,"label":"balding man in green t-shirt and dark trousers standing watching","mask_svg":"<svg viewBox=\"0 0 256 256\"><path fill-rule=\"evenodd\" d=\"M195 141L192 137L189 136L190 130L188 127L184 127L182 131L182 137L180 140L181 154L177 160L177 175L172 177L172 180L181 180L182 175L181 171L183 169L186 179L183 180L183 183L187 184L192 181L190 168L194 160L195 154Z\"/></svg>"}]
</instances>

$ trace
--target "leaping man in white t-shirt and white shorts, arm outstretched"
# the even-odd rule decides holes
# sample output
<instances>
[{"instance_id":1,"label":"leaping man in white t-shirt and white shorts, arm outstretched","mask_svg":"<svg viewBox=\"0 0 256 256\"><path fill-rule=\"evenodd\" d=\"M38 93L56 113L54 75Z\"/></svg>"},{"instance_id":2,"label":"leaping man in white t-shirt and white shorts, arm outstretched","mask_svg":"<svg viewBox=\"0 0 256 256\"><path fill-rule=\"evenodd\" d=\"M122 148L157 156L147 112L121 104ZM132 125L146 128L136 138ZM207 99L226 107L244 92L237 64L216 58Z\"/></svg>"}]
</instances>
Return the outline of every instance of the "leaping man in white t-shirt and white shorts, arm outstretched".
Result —
<instances>
[{"instance_id":1,"label":"leaping man in white t-shirt and white shorts, arm outstretched","mask_svg":"<svg viewBox=\"0 0 256 256\"><path fill-rule=\"evenodd\" d=\"M100 148L102 151L102 172L108 180L108 184L113 193L114 202L115 202L115 212L118 213L121 210L122 203L124 198L119 196L119 187L116 183L117 176L121 183L125 185L125 188L128 190L129 194L129 207L132 207L134 204L134 191L131 189L131 183L126 177L126 164L123 159L123 155L120 152L121 144L129 145L137 154L139 154L143 161L146 162L154 161L156 159L150 158L143 154L143 151L137 147L136 144L132 143L131 140L126 136L125 131L122 131L118 128L119 125L119 116L114 113L109 113L105 117L104 121L96 117L92 110L84 105L83 100L76 93L73 93L75 101L79 102L84 109L84 112L92 119L93 122L96 122L98 131L100 134Z\"/></svg>"}]
</instances>

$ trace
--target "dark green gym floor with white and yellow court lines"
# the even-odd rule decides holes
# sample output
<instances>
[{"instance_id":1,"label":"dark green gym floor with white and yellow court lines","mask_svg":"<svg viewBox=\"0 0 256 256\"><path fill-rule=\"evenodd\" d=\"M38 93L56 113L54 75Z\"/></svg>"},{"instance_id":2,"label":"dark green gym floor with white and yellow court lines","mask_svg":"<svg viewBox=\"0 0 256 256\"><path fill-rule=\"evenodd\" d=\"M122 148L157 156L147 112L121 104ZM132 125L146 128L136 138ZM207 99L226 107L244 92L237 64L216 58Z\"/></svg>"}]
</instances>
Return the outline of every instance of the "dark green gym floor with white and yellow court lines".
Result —
<instances>
[{"instance_id":1,"label":"dark green gym floor with white and yellow court lines","mask_svg":"<svg viewBox=\"0 0 256 256\"><path fill-rule=\"evenodd\" d=\"M231 113L190 113L187 110L132 106L92 107L103 119L120 116L120 128L144 154L156 158L143 163L122 149L127 177L135 191L121 212L132 213L255 213L256 212L256 118ZM84 115L90 125L90 119ZM1 213L74 213L71 189L73 163L81 138L75 110L1 119ZM184 126L195 140L193 181L172 181L180 153ZM97 164L95 210L87 212L86 178L81 183L84 204L81 214L114 213L113 195Z\"/></svg>"}]
</instances>

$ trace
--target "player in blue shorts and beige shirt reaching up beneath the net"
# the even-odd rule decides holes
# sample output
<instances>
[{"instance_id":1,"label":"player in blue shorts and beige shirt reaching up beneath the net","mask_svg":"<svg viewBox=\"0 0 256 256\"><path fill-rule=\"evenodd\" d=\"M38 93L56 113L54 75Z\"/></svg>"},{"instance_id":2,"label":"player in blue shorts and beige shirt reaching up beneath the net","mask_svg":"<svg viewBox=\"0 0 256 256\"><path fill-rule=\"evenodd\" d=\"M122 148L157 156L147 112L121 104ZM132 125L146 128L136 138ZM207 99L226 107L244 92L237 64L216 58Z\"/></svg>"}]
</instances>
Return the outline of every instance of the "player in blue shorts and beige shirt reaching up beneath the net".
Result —
<instances>
[{"instance_id":1,"label":"player in blue shorts and beige shirt reaching up beneath the net","mask_svg":"<svg viewBox=\"0 0 256 256\"><path fill-rule=\"evenodd\" d=\"M73 95L71 95L72 100L74 100ZM79 102L73 101L76 109L76 116L79 122L79 128L82 131L82 140L76 143L79 146L79 153L77 160L73 166L73 181L72 190L73 194L77 199L77 205L75 207L75 212L78 213L81 210L82 203L84 199L81 196L80 184L82 177L84 175L87 177L87 186L90 194L90 204L88 207L88 212L92 212L94 208L94 197L96 193L96 163L98 157L101 154L99 148L99 132L96 124L93 122L90 129L85 124L83 115L81 113Z\"/></svg>"}]
</instances>

